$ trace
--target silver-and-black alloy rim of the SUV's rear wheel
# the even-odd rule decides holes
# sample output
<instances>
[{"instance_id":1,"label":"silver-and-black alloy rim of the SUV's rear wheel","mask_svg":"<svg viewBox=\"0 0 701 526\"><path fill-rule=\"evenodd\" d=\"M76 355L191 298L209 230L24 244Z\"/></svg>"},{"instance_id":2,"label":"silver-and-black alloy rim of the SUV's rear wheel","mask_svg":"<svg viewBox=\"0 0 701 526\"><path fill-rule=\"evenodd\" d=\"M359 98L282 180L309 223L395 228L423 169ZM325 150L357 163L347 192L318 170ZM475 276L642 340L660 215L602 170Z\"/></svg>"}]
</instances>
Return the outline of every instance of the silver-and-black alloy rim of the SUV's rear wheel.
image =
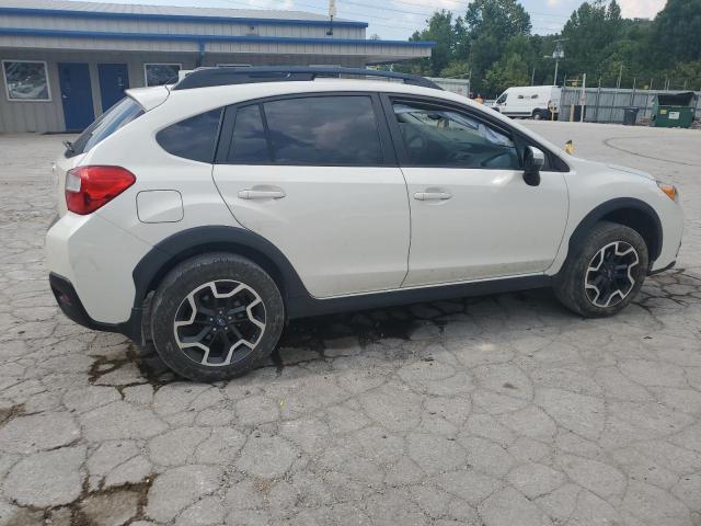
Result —
<instances>
[{"instance_id":1,"label":"silver-and-black alloy rim of the SUV's rear wheel","mask_svg":"<svg viewBox=\"0 0 701 526\"><path fill-rule=\"evenodd\" d=\"M205 283L175 312L173 331L181 351L207 366L239 362L265 333L265 305L249 285L231 279Z\"/></svg>"}]
</instances>

